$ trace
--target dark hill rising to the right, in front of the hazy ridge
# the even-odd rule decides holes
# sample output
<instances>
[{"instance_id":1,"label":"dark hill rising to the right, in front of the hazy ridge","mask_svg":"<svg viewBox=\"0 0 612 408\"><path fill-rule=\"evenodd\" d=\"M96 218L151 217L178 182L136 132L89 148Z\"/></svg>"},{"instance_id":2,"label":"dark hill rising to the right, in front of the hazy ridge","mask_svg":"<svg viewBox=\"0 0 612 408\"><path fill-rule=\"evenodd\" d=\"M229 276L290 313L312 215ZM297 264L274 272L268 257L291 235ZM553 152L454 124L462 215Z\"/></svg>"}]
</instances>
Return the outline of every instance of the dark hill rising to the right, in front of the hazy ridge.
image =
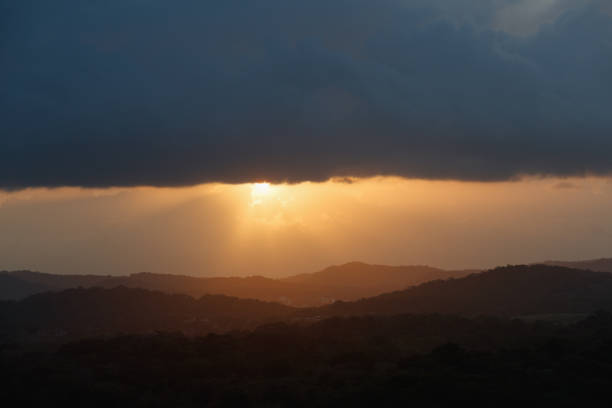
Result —
<instances>
[{"instance_id":1,"label":"dark hill rising to the right, in front of the hazy ridge","mask_svg":"<svg viewBox=\"0 0 612 408\"><path fill-rule=\"evenodd\" d=\"M500 267L459 279L300 312L304 316L400 313L506 315L612 310L612 275L550 265Z\"/></svg>"}]
</instances>

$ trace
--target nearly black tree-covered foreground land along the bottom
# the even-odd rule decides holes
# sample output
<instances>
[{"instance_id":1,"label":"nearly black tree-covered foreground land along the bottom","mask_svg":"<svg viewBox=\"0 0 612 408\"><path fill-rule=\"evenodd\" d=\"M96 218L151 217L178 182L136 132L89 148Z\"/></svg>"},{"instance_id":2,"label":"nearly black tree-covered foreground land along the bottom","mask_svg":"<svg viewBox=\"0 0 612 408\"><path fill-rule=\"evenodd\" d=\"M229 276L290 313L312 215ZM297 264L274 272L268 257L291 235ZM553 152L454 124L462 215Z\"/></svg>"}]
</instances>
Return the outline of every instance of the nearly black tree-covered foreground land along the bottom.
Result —
<instances>
[{"instance_id":1,"label":"nearly black tree-covered foreground land along the bottom","mask_svg":"<svg viewBox=\"0 0 612 408\"><path fill-rule=\"evenodd\" d=\"M612 386L612 315L570 326L333 318L226 335L129 335L0 352L22 406L588 406Z\"/></svg>"}]
</instances>

